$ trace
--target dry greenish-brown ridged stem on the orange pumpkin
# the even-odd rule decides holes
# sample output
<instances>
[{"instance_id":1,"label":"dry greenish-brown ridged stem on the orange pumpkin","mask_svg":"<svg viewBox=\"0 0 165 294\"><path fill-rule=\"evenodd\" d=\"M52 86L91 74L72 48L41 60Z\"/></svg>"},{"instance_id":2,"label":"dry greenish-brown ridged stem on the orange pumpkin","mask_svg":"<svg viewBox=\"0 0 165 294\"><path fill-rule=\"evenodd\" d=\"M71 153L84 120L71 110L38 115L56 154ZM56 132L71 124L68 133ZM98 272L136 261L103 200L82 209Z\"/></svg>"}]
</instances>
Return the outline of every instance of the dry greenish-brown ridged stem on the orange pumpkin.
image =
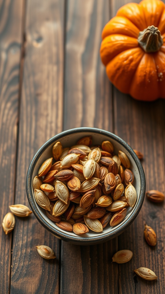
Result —
<instances>
[{"instance_id":1,"label":"dry greenish-brown ridged stem on the orange pumpkin","mask_svg":"<svg viewBox=\"0 0 165 294\"><path fill-rule=\"evenodd\" d=\"M139 33L139 45L146 53L159 51L163 44L163 39L160 31L155 26L148 26Z\"/></svg>"}]
</instances>

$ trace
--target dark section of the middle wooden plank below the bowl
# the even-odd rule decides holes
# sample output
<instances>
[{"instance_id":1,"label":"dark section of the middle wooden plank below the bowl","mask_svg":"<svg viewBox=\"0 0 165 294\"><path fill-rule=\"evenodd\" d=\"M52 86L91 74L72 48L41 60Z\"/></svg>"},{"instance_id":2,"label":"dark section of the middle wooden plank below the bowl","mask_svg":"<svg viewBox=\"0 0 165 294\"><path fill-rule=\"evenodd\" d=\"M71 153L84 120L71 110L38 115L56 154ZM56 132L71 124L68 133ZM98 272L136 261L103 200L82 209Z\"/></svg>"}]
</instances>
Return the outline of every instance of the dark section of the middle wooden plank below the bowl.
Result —
<instances>
[{"instance_id":1,"label":"dark section of the middle wooden plank below the bowl","mask_svg":"<svg viewBox=\"0 0 165 294\"><path fill-rule=\"evenodd\" d=\"M116 250L117 239L91 246L62 241L60 293L118 293L117 265L112 265Z\"/></svg>"}]
</instances>

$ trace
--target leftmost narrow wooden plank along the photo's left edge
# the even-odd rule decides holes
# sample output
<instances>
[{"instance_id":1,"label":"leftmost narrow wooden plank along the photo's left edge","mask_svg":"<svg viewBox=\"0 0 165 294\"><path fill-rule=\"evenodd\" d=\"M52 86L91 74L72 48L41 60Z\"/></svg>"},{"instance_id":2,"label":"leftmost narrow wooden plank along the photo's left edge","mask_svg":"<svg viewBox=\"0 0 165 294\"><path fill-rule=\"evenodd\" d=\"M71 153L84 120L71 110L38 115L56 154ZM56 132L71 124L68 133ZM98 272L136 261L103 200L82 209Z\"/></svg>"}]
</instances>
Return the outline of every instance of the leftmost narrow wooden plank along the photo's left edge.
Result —
<instances>
[{"instance_id":1,"label":"leftmost narrow wooden plank along the photo's left edge","mask_svg":"<svg viewBox=\"0 0 165 294\"><path fill-rule=\"evenodd\" d=\"M0 4L0 201L1 223L9 205L14 203L19 68L23 1ZM10 292L12 233L0 226L0 293Z\"/></svg>"}]
</instances>

